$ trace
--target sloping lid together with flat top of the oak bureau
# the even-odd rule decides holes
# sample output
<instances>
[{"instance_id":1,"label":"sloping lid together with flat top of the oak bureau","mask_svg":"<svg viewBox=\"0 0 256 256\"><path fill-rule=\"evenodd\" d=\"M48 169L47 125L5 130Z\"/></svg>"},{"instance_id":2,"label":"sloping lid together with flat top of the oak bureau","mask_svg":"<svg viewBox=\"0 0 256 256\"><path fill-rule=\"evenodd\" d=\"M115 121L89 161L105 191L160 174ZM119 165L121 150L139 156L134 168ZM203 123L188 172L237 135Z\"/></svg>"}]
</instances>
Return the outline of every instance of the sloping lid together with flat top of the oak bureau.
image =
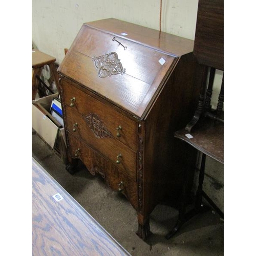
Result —
<instances>
[{"instance_id":1,"label":"sloping lid together with flat top of the oak bureau","mask_svg":"<svg viewBox=\"0 0 256 256\"><path fill-rule=\"evenodd\" d=\"M100 29L102 26L103 29ZM121 27L125 32L116 34ZM192 40L162 34L163 39L159 39L157 30L116 19L83 24L58 72L123 110L143 118L179 56L193 51ZM143 44L137 41L139 37L143 39ZM182 49L183 44L185 51L177 50L176 54L175 51L167 51L172 46L164 49L156 47L156 42L159 46L167 45L166 40L170 37L173 38L170 41L175 41L173 49ZM153 43L150 45L148 42Z\"/></svg>"}]
</instances>

